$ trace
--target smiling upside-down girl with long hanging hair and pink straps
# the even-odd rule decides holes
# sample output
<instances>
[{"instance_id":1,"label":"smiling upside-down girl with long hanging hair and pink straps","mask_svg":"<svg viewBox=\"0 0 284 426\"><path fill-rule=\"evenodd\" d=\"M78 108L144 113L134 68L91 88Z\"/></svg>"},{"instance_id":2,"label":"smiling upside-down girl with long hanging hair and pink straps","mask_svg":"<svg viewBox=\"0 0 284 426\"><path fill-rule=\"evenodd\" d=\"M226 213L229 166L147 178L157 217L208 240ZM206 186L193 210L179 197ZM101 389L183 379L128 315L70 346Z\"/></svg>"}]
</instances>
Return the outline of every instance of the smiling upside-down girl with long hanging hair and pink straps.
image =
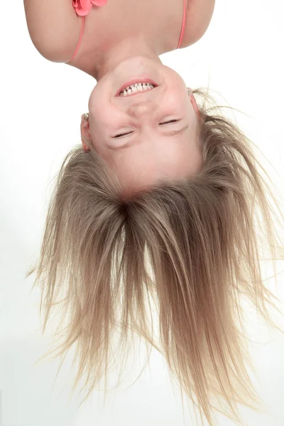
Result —
<instances>
[{"instance_id":1,"label":"smiling upside-down girl with long hanging hair and pink straps","mask_svg":"<svg viewBox=\"0 0 284 426\"><path fill-rule=\"evenodd\" d=\"M159 58L202 37L214 1L24 3L40 53L97 80L28 273L42 290L43 329L51 311L62 314L58 354L77 345L76 383L86 374L89 392L135 333L210 426L214 408L239 420L236 403L258 403L241 295L269 321L260 243L283 256L273 195L252 143Z\"/></svg>"}]
</instances>

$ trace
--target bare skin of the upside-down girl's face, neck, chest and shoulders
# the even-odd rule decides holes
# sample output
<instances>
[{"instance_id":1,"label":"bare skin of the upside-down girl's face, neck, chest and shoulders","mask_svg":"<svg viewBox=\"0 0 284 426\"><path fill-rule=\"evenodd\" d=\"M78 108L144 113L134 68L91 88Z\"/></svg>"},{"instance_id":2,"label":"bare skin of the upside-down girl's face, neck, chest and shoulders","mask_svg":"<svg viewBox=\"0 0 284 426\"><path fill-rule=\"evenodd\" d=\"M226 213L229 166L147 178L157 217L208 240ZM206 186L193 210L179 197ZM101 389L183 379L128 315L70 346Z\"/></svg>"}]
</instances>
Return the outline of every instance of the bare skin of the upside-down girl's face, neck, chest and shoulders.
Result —
<instances>
[{"instance_id":1,"label":"bare skin of the upside-down girl's face, neck, chest and shoulders","mask_svg":"<svg viewBox=\"0 0 284 426\"><path fill-rule=\"evenodd\" d=\"M202 38L214 4L215 0L186 1L181 48ZM24 5L28 30L40 53L97 81L89 97L89 119L82 114L82 145L107 161L125 192L162 178L198 173L202 155L195 97L188 94L180 75L160 60L178 46L183 0L108 0L105 6L92 7L74 59L82 17L72 1L24 0ZM131 97L116 96L121 86L142 78L157 87ZM128 134L116 137L121 133Z\"/></svg>"}]
</instances>

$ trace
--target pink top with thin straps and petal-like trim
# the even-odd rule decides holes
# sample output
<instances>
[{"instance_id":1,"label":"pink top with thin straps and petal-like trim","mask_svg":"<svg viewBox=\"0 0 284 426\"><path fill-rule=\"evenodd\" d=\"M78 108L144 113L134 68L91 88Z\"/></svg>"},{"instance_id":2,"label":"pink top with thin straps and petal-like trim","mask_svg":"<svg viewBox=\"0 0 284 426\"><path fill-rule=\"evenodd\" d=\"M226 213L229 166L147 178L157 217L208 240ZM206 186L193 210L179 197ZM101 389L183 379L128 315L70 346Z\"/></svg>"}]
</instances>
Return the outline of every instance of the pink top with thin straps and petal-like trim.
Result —
<instances>
[{"instance_id":1,"label":"pink top with thin straps and petal-like trim","mask_svg":"<svg viewBox=\"0 0 284 426\"><path fill-rule=\"evenodd\" d=\"M82 26L80 32L79 42L77 44L77 48L75 50L74 55L72 56L73 60L77 55L77 52L80 48L80 44L82 41L83 31L84 31L84 17L91 11L92 5L94 6L104 6L107 4L107 0L72 0L73 6L77 15L82 16ZM180 40L178 40L178 47L182 44L183 35L185 34L185 21L186 21L186 12L187 12L187 0L183 0L183 18L182 18L182 28L180 30ZM71 60L69 62L71 62Z\"/></svg>"}]
</instances>

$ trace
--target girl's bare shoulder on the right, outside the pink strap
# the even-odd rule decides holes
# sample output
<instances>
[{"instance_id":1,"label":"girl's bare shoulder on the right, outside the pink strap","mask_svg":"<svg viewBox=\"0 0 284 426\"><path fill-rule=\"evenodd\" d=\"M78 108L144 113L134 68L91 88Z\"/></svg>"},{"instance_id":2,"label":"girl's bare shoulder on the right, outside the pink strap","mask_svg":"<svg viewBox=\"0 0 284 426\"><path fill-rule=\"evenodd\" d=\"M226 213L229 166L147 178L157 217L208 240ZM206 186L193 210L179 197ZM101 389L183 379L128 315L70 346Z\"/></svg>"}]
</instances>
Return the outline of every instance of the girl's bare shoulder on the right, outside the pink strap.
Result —
<instances>
[{"instance_id":1,"label":"girl's bare shoulder on the right, outside the pink strap","mask_svg":"<svg viewBox=\"0 0 284 426\"><path fill-rule=\"evenodd\" d=\"M196 43L206 33L215 0L187 0L187 19L182 48Z\"/></svg>"}]
</instances>

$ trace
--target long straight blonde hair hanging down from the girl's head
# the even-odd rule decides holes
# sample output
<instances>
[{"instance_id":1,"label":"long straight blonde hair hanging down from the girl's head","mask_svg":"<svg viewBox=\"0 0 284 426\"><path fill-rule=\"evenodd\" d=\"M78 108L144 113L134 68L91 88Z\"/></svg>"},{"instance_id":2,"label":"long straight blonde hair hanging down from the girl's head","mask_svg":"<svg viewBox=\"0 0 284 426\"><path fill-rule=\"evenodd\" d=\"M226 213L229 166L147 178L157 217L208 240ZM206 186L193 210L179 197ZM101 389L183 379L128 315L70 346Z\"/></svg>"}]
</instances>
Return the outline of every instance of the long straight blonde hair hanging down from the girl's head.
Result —
<instances>
[{"instance_id":1,"label":"long straight blonde hair hanging down from the girl's head","mask_svg":"<svg viewBox=\"0 0 284 426\"><path fill-rule=\"evenodd\" d=\"M86 398L138 334L165 356L211 426L214 408L240 422L236 403L259 405L247 371L241 299L271 321L268 307L277 307L263 283L260 244L275 271L283 251L274 222L284 221L269 200L276 203L253 143L217 107L205 107L209 95L194 94L204 99L200 173L160 180L126 199L93 148L74 148L58 174L40 259L28 275L36 271L41 289L43 332L52 313L60 315L59 329L66 324L55 356L75 345L75 386L86 377Z\"/></svg>"}]
</instances>

